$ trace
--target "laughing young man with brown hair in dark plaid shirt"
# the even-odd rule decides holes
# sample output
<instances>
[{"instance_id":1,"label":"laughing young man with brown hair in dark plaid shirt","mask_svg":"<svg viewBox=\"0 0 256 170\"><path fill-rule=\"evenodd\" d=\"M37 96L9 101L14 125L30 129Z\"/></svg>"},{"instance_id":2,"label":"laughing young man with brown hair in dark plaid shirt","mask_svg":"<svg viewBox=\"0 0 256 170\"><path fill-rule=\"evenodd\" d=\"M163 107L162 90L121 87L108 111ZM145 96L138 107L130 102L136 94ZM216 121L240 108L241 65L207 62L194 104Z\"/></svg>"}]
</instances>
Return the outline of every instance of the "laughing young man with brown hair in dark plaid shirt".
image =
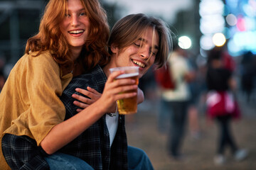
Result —
<instances>
[{"instance_id":1,"label":"laughing young man with brown hair in dark plaid shirt","mask_svg":"<svg viewBox=\"0 0 256 170\"><path fill-rule=\"evenodd\" d=\"M138 86L134 85L135 81L132 79L114 80L122 72L110 74L110 68L136 66L139 67L140 78L152 64L161 67L171 49L169 31L164 22L142 13L117 21L108 42L110 62L102 67L97 65L92 72L75 77L60 97L66 108L65 120L60 124L65 127L60 126L61 130L58 131L59 127L56 125L49 132L49 135L55 135L55 139L46 136L41 142L48 154L44 159L50 169L70 169L67 164L72 164L77 169L153 169L142 149L128 146L124 115L119 115L116 110L112 111L113 106L116 108L117 99L137 95L124 94L122 91L137 89ZM94 93L99 96L94 103L90 106L80 103L80 108L73 105L72 94L79 91L90 97L82 89L91 87L97 90ZM73 95L75 96L76 94ZM88 98L78 98L89 103ZM9 143L9 139L14 137L8 134L6 140L3 139L3 151L11 164L21 162L19 158L23 159L19 157L21 150L13 149L21 145L21 140L11 145ZM31 139L26 137L26 140ZM25 140L23 143L28 144ZM36 149L35 144L31 148ZM21 155L26 155L26 152Z\"/></svg>"}]
</instances>

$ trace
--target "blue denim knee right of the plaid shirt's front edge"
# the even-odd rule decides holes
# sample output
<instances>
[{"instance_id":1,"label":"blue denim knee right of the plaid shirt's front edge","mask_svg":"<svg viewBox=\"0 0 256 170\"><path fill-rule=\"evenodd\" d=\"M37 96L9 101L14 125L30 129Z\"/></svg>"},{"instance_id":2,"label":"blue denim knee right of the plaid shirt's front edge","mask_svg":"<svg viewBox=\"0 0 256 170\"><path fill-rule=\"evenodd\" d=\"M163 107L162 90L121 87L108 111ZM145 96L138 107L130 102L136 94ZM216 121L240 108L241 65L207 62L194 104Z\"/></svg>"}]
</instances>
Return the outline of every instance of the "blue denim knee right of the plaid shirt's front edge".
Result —
<instances>
[{"instance_id":1,"label":"blue denim knee right of the plaid shirt's front edge","mask_svg":"<svg viewBox=\"0 0 256 170\"><path fill-rule=\"evenodd\" d=\"M128 169L151 170L154 169L146 153L137 147L128 146Z\"/></svg>"}]
</instances>

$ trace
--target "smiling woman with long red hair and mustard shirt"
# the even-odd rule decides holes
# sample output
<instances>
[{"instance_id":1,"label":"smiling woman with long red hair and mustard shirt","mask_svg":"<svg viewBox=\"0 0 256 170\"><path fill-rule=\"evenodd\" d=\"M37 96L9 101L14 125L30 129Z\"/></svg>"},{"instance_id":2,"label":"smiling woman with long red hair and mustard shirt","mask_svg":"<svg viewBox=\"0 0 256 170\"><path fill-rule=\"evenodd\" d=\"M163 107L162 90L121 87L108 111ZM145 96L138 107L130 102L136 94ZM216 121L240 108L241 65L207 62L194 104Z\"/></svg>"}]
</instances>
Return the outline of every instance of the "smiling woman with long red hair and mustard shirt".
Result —
<instances>
[{"instance_id":1,"label":"smiling woman with long red hair and mustard shirt","mask_svg":"<svg viewBox=\"0 0 256 170\"><path fill-rule=\"evenodd\" d=\"M48 1L38 34L28 39L25 54L16 62L0 94L1 142L4 134L29 137L28 142L38 149L49 138L55 143L64 141L65 137L52 135L68 127L63 123L65 106L59 97L73 77L108 62L109 34L107 16L99 1ZM0 169L6 170L10 167L1 152L3 146ZM19 148L31 151L24 145ZM43 149L38 154L43 154ZM25 159L41 161L39 167L48 168L34 155Z\"/></svg>"}]
</instances>

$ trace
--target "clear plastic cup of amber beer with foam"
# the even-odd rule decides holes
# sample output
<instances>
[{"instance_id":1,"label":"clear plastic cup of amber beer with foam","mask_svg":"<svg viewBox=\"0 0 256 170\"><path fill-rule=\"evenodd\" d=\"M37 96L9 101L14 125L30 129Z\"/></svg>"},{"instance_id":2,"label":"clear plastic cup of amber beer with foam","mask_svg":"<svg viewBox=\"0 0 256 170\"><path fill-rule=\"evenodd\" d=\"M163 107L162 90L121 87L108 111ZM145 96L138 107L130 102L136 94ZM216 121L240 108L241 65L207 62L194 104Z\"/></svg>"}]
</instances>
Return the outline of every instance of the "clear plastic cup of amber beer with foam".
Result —
<instances>
[{"instance_id":1,"label":"clear plastic cup of amber beer with foam","mask_svg":"<svg viewBox=\"0 0 256 170\"><path fill-rule=\"evenodd\" d=\"M135 79L139 84L139 67L115 67L110 69L110 72L124 71L124 74L119 75L116 79ZM124 93L136 92L137 89L131 91L124 91ZM137 113L137 96L132 98L124 98L117 101L117 108L120 115L127 115Z\"/></svg>"}]
</instances>

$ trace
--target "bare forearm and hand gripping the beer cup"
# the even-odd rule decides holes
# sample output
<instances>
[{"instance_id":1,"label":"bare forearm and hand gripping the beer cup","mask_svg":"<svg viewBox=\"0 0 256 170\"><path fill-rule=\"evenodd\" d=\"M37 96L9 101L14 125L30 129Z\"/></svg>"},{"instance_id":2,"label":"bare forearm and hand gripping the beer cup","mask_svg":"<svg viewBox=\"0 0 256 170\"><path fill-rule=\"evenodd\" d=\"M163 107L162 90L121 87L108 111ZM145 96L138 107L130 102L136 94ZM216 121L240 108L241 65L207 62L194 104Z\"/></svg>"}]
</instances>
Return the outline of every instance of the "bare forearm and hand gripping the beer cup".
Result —
<instances>
[{"instance_id":1,"label":"bare forearm and hand gripping the beer cup","mask_svg":"<svg viewBox=\"0 0 256 170\"><path fill-rule=\"evenodd\" d=\"M41 142L41 147L46 153L53 154L58 151L58 149L74 140L75 137L78 137L78 135L99 120L102 115L107 113L115 101L137 95L137 93L121 93L122 91L137 89L138 86L134 85L135 81L132 79L119 79L114 81L114 78L120 74L122 74L122 72L110 74L102 96L100 96L95 103L90 104L90 106L87 106L72 118L63 121L63 123L55 125L52 130L48 132L48 135L46 135Z\"/></svg>"}]
</instances>

